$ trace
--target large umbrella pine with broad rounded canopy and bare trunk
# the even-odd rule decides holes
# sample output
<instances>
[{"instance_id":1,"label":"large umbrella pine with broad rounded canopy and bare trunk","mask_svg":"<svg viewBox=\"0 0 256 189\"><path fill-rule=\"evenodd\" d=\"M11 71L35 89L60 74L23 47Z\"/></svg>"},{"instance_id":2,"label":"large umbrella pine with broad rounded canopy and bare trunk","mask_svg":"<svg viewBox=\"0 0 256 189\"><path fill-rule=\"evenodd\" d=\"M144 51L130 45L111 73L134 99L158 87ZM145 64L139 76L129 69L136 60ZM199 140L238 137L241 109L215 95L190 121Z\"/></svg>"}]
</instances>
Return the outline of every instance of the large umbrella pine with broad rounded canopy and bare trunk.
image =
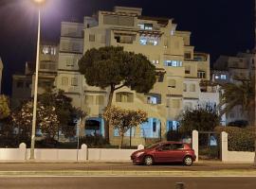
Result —
<instances>
[{"instance_id":1,"label":"large umbrella pine with broad rounded canopy and bare trunk","mask_svg":"<svg viewBox=\"0 0 256 189\"><path fill-rule=\"evenodd\" d=\"M137 93L148 93L155 84L155 66L142 54L123 51L123 47L92 48L79 61L79 68L90 86L110 87L107 108L113 94L122 87ZM109 126L105 124L105 138L109 140Z\"/></svg>"}]
</instances>

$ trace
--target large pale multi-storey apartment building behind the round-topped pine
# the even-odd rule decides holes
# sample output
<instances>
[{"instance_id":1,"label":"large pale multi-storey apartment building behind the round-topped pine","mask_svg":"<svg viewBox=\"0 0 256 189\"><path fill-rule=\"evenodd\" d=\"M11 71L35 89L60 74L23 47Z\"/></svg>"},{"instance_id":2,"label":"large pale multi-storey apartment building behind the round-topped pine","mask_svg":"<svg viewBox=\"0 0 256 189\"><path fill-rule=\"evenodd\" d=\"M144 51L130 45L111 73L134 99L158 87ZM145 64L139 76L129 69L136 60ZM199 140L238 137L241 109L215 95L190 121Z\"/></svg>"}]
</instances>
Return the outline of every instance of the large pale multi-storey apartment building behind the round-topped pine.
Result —
<instances>
[{"instance_id":1,"label":"large pale multi-storey apartment building behind the round-topped pine","mask_svg":"<svg viewBox=\"0 0 256 189\"><path fill-rule=\"evenodd\" d=\"M125 51L142 53L158 72L154 88L148 94L137 94L121 88L113 104L125 109L148 112L148 122L125 134L128 143L144 144L145 139L164 138L177 129L178 117L186 109L219 103L217 86L202 85L210 80L210 56L194 52L191 32L178 31L173 19L143 16L142 9L115 7L84 17L83 23L63 22L56 86L73 98L76 107L87 112L85 133L104 134L102 113L107 104L108 89L88 86L79 73L78 60L90 48L123 46ZM96 124L92 124L96 123ZM118 130L110 129L110 142L119 143Z\"/></svg>"}]
</instances>

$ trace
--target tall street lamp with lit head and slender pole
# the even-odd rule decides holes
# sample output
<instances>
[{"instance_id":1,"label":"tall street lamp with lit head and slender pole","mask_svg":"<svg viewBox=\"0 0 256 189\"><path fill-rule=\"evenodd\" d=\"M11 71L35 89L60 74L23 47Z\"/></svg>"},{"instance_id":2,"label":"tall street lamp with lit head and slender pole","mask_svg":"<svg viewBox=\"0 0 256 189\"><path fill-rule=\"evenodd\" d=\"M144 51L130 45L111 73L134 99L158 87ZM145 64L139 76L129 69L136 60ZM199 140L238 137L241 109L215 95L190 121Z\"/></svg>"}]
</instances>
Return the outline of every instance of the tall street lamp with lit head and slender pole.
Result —
<instances>
[{"instance_id":1,"label":"tall street lamp with lit head and slender pole","mask_svg":"<svg viewBox=\"0 0 256 189\"><path fill-rule=\"evenodd\" d=\"M35 128L36 128L36 110L37 110L37 90L38 90L38 68L39 68L39 49L40 49L40 25L41 25L41 12L40 7L46 0L33 0L38 6L38 29L37 29L37 50L36 50L36 70L35 70L35 89L34 89L34 102L33 102L33 120L32 120L32 133L31 133L31 146L30 146L30 160L35 159Z\"/></svg>"}]
</instances>

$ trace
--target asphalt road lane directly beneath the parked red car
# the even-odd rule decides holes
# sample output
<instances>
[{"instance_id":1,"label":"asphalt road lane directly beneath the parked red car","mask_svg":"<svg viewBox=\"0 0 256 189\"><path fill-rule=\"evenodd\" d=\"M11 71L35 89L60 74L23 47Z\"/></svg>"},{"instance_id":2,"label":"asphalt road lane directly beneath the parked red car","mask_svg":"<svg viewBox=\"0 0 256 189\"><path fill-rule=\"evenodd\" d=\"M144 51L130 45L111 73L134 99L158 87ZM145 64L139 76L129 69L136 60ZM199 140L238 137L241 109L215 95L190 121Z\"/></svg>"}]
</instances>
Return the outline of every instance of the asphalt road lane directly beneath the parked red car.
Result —
<instances>
[{"instance_id":1,"label":"asphalt road lane directly beneath the parked red car","mask_svg":"<svg viewBox=\"0 0 256 189\"><path fill-rule=\"evenodd\" d=\"M153 166L132 163L0 163L0 171L218 171L256 170L252 164L242 163L180 163L156 164Z\"/></svg>"}]
</instances>

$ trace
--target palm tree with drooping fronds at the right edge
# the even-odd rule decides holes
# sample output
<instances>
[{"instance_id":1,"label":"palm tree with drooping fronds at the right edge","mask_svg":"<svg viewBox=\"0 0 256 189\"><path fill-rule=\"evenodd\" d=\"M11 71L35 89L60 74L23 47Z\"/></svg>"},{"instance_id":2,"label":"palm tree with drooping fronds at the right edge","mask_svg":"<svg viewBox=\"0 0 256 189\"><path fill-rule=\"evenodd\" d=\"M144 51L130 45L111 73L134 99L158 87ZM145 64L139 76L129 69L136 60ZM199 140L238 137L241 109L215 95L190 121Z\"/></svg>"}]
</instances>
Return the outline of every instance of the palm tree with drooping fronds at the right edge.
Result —
<instances>
[{"instance_id":1,"label":"palm tree with drooping fronds at the right edge","mask_svg":"<svg viewBox=\"0 0 256 189\"><path fill-rule=\"evenodd\" d=\"M224 92L221 95L219 107L220 114L230 112L235 106L241 106L243 114L247 114L250 126L255 124L255 81L245 80L241 84L227 83L221 87Z\"/></svg>"}]
</instances>

